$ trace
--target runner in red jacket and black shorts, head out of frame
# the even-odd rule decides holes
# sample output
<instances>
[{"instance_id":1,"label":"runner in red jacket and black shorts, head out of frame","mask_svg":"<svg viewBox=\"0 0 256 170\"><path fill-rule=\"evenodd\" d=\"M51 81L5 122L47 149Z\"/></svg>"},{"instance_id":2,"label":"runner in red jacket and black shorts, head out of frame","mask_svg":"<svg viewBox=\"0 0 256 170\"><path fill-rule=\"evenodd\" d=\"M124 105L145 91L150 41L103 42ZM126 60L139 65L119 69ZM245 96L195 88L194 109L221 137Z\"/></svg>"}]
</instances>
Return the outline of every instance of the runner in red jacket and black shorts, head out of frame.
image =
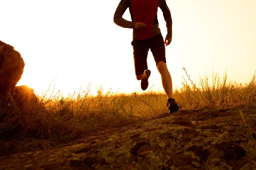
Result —
<instances>
[{"instance_id":1,"label":"runner in red jacket and black shorts, head out of frame","mask_svg":"<svg viewBox=\"0 0 256 170\"><path fill-rule=\"evenodd\" d=\"M163 11L163 17L166 21L167 35L165 41L163 41L157 20L158 7ZM132 21L122 18L127 8L129 8ZM123 28L133 29L131 45L134 50L135 74L136 78L141 80L141 89L144 91L148 88L148 78L151 71L148 70L147 57L150 49L161 74L169 113L178 111L179 106L173 99L172 77L168 71L165 56L165 45L169 45L172 41L172 16L166 0L121 0L114 14L114 23Z\"/></svg>"}]
</instances>

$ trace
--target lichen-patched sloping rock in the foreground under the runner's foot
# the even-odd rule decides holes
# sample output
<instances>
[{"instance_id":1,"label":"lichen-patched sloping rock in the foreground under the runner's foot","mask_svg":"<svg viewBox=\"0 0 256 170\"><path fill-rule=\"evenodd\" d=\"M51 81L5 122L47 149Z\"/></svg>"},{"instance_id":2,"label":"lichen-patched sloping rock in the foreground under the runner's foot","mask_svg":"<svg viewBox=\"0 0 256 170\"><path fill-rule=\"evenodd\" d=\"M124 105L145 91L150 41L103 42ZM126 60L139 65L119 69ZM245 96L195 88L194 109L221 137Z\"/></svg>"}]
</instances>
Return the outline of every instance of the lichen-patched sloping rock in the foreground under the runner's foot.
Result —
<instances>
[{"instance_id":1,"label":"lichen-patched sloping rock in the foreground under the runner's foot","mask_svg":"<svg viewBox=\"0 0 256 170\"><path fill-rule=\"evenodd\" d=\"M0 158L0 170L254 170L256 109L178 111L112 136Z\"/></svg>"}]
</instances>

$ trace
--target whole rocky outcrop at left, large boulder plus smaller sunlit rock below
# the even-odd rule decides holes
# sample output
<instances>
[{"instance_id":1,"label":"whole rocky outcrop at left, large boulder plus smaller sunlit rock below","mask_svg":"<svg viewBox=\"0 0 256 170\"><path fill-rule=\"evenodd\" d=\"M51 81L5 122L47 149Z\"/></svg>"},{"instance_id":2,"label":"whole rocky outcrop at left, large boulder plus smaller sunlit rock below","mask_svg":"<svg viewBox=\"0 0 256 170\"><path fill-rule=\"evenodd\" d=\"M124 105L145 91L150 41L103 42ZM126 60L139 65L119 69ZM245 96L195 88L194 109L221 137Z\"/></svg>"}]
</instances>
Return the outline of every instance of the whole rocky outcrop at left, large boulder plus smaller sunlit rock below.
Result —
<instances>
[{"instance_id":1,"label":"whole rocky outcrop at left, large boulder plus smaller sunlit rock below","mask_svg":"<svg viewBox=\"0 0 256 170\"><path fill-rule=\"evenodd\" d=\"M24 102L36 102L34 90L26 85L16 87L20 80L25 63L20 53L13 46L0 41L0 99L2 103L9 103L12 99L17 105Z\"/></svg>"}]
</instances>

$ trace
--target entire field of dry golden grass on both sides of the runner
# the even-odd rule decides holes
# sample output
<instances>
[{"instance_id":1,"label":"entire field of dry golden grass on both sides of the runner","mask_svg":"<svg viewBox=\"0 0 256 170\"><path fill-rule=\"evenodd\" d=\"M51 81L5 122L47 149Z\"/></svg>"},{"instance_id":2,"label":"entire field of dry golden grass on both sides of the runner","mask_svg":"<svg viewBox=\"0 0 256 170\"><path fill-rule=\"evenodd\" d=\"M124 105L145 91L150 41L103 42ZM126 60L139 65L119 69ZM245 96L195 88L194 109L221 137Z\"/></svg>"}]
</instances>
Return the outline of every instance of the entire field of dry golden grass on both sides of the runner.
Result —
<instances>
[{"instance_id":1,"label":"entire field of dry golden grass on both sides of the runner","mask_svg":"<svg viewBox=\"0 0 256 170\"><path fill-rule=\"evenodd\" d=\"M174 98L183 110L256 106L256 75L246 85L228 82L227 74L201 77L199 85L187 71L183 87ZM166 96L149 91L130 95L100 87L96 96L86 90L64 97L49 89L39 103L0 103L0 156L47 149L101 131L140 123L168 112ZM12 99L12 96L10 96Z\"/></svg>"}]
</instances>

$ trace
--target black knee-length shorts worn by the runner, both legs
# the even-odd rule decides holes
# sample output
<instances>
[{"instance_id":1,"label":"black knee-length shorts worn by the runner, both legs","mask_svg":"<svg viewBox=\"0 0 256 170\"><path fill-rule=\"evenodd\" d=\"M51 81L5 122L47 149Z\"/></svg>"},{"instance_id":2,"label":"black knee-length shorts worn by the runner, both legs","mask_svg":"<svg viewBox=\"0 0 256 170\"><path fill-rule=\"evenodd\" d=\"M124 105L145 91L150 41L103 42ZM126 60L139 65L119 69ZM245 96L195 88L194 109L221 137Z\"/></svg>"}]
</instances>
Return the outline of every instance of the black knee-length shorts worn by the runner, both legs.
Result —
<instances>
[{"instance_id":1,"label":"black knee-length shorts worn by the runner, both legs","mask_svg":"<svg viewBox=\"0 0 256 170\"><path fill-rule=\"evenodd\" d=\"M147 57L148 51L152 52L156 64L160 61L166 62L165 43L162 34L157 34L154 37L146 40L134 39L131 42L134 50L134 66L135 74L140 75L148 69Z\"/></svg>"}]
</instances>

